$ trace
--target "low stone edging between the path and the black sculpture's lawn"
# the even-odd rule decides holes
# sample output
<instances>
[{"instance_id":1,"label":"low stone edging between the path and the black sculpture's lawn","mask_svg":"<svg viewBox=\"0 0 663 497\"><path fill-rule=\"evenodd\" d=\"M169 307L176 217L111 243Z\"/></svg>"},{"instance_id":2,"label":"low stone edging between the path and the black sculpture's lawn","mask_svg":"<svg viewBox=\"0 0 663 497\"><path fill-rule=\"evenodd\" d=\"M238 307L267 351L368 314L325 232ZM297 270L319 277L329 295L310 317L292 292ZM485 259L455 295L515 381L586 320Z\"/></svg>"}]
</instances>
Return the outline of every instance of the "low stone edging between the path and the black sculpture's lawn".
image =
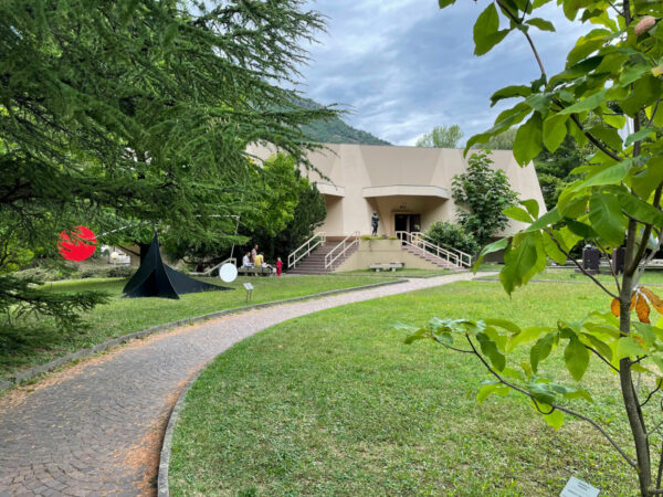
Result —
<instances>
[{"instance_id":1,"label":"low stone edging between the path and the black sculpture's lawn","mask_svg":"<svg viewBox=\"0 0 663 497\"><path fill-rule=\"evenodd\" d=\"M352 286L348 288L338 288L327 292L319 292L317 294L303 295L301 297L285 298L282 300L273 300L265 302L261 304L254 304L250 306L234 307L232 309L218 310L215 313L203 314L201 316L193 316L186 319L178 319L177 321L164 322L162 325L151 326L149 328L141 329L139 331L134 331L133 334L123 335L122 337L113 338L110 340L106 340L102 343L97 343L94 347L76 350L75 352L67 353L57 359L46 362L45 364L35 366L33 368L25 369L15 373L11 377L10 380L0 381L0 392L3 390L9 390L18 384L21 384L24 381L33 380L34 378L45 374L48 372L54 371L57 368L62 368L71 362L85 359L87 357L94 356L95 353L104 352L110 348L118 347L127 341L135 340L137 338L145 338L149 335L165 331L167 329L178 328L180 326L186 326L192 322L206 321L209 319L214 319L223 316L229 316L232 314L245 313L248 310L262 309L265 307L273 307L282 304L292 304L295 302L307 300L309 298L320 298L328 297L330 295L337 295L346 292L358 292L364 289L376 288L380 286L394 285L399 283L406 283L407 278L397 279L393 282L381 282L381 283L371 283L370 285L362 286Z\"/></svg>"}]
</instances>

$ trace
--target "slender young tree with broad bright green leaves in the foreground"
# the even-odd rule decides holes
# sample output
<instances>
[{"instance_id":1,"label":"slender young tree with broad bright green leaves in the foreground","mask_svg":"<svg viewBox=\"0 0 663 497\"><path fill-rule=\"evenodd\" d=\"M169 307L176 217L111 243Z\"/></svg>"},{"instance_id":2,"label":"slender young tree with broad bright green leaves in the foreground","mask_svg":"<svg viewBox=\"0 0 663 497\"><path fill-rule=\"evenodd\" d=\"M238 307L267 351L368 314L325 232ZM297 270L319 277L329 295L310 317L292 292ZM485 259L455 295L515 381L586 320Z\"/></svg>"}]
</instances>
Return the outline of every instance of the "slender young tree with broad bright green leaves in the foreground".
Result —
<instances>
[{"instance_id":1,"label":"slender young tree with broad bright green leaves in the foreground","mask_svg":"<svg viewBox=\"0 0 663 497\"><path fill-rule=\"evenodd\" d=\"M439 0L442 8L454 1ZM663 328L652 308L663 314L663 300L640 285L640 278L663 244L663 2L558 0L569 20L592 29L577 40L565 68L554 75L545 68L534 34L535 29L555 31L549 20L537 17L546 3L494 0L482 6L474 25L475 54L490 52L513 32L524 36L540 76L498 89L493 104L504 98L517 103L490 130L470 138L467 147L517 127L514 156L523 166L544 147L555 152L568 135L580 146L591 142L596 151L572 171L577 179L547 213L539 216L533 199L505 210L529 226L487 246L484 254L505 251L499 279L508 294L545 269L548 257L566 262L587 239L606 256L624 245L623 273L612 258L612 284L585 272L606 300L579 320L559 316L550 324L520 328L502 319L433 319L428 328L413 330L410 341L431 338L476 357L492 378L481 388L480 400L517 392L556 429L565 416L588 423L633 469L641 495L661 495ZM598 123L586 124L589 113ZM583 271L580 264L578 268ZM545 361L561 348L557 359L566 371L557 374ZM597 377L585 374L592 357L604 373L603 384L621 396L621 410L615 410L612 395L606 404L610 424L585 404L601 400ZM631 434L630 444L614 436L619 430Z\"/></svg>"}]
</instances>

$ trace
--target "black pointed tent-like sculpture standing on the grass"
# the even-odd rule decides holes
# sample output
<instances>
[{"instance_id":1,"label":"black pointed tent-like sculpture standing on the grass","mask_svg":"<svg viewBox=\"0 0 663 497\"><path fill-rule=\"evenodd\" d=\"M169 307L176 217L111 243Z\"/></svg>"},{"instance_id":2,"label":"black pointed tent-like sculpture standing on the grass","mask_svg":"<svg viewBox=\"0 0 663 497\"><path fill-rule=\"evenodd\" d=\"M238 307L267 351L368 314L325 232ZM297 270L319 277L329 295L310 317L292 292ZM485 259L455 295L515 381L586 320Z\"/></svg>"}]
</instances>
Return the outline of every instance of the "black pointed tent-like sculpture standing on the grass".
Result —
<instances>
[{"instance_id":1,"label":"black pointed tent-like sculpture standing on the grass","mask_svg":"<svg viewBox=\"0 0 663 497\"><path fill-rule=\"evenodd\" d=\"M199 282L164 264L159 251L159 240L155 233L152 243L147 251L147 255L140 263L140 267L138 267L136 274L125 285L123 292L125 293L125 297L129 298L179 298L181 294L227 289L232 288Z\"/></svg>"}]
</instances>

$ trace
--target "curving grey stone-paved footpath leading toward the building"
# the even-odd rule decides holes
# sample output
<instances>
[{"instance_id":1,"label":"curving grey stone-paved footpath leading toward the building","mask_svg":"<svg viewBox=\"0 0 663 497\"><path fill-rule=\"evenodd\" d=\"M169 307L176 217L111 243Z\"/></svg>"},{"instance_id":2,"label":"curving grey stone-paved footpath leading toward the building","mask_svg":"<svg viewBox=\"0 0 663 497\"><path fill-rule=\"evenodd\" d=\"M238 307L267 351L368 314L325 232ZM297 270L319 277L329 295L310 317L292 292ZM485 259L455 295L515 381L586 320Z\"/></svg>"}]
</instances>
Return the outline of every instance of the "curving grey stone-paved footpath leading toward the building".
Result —
<instances>
[{"instance_id":1,"label":"curving grey stone-paved footpath leading toward the building","mask_svg":"<svg viewBox=\"0 0 663 497\"><path fill-rule=\"evenodd\" d=\"M10 392L0 399L0 496L155 495L161 440L179 392L233 343L322 309L472 277L411 279L231 315L137 340L33 390Z\"/></svg>"}]
</instances>

